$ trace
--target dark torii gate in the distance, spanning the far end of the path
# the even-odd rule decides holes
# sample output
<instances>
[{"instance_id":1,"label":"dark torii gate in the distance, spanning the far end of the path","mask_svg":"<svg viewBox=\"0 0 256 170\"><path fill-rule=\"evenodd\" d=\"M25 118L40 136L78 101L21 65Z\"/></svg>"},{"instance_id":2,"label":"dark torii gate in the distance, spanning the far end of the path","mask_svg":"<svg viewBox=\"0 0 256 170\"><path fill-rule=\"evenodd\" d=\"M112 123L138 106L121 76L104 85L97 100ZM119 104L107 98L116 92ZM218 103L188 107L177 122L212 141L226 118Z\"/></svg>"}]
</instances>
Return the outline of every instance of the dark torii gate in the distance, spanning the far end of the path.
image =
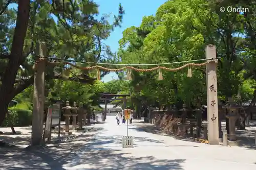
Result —
<instances>
[{"instance_id":1,"label":"dark torii gate in the distance, spanning the far end of the path","mask_svg":"<svg viewBox=\"0 0 256 170\"><path fill-rule=\"evenodd\" d=\"M106 119L106 104L107 101L123 101L124 108L126 107L126 97L130 96L130 94L101 94L101 101L104 101L105 103L105 111L104 111L104 116L103 116L103 121ZM122 98L117 98L117 97L122 97ZM111 99L110 99L111 98ZM114 99L113 99L114 98Z\"/></svg>"}]
</instances>

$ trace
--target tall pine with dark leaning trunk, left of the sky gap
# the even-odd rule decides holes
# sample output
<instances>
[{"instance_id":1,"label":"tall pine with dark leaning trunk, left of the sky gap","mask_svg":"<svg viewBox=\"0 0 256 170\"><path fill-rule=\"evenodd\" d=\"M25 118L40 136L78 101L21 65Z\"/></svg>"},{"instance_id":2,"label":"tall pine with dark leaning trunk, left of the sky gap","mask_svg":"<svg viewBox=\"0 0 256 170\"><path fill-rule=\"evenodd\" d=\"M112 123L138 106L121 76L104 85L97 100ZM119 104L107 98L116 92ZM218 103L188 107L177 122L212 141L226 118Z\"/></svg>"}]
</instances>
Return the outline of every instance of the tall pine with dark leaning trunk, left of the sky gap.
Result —
<instances>
[{"instance_id":1,"label":"tall pine with dark leaning trunk, left of the sky gap","mask_svg":"<svg viewBox=\"0 0 256 170\"><path fill-rule=\"evenodd\" d=\"M1 42L0 51L0 124L14 96L33 84L33 64L37 60L34 44L37 41L45 41L47 54L54 58L106 62L110 51L101 41L120 26L124 14L119 4L114 23L108 22L108 16L96 19L98 6L89 0L4 2L0 1L0 20L5 21L0 36L6 38ZM15 9L7 9L10 3L17 3L16 16ZM8 17L11 19L6 19ZM46 79L65 79L61 75L65 67L48 65ZM22 77L17 78L18 71L22 72ZM90 84L95 80L89 72L68 79Z\"/></svg>"}]
</instances>

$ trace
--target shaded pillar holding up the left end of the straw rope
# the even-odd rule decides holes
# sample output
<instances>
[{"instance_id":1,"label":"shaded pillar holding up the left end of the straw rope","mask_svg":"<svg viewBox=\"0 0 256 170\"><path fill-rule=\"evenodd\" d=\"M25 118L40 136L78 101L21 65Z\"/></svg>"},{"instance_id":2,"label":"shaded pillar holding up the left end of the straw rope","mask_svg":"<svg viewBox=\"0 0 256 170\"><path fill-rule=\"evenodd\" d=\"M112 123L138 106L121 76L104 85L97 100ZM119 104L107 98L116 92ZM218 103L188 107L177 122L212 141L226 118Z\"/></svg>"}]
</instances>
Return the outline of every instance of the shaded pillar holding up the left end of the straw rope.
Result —
<instances>
[{"instance_id":1,"label":"shaded pillar holding up the left end of the straw rope","mask_svg":"<svg viewBox=\"0 0 256 170\"><path fill-rule=\"evenodd\" d=\"M47 46L45 42L38 42L36 55L46 57ZM33 119L31 145L40 145L42 142L44 104L45 104L45 67L44 59L37 60L34 72L34 93L33 93Z\"/></svg>"}]
</instances>

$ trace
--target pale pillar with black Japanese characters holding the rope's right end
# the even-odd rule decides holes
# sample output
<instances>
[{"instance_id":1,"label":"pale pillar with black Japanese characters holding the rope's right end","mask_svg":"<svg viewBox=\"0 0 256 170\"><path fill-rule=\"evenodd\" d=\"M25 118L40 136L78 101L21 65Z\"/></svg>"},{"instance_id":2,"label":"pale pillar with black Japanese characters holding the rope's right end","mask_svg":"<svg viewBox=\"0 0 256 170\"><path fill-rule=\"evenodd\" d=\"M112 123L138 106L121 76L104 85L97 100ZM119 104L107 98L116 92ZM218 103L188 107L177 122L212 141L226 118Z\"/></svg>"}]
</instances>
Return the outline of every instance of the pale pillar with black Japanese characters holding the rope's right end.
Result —
<instances>
[{"instance_id":1,"label":"pale pillar with black Japanese characters holding the rope's right end","mask_svg":"<svg viewBox=\"0 0 256 170\"><path fill-rule=\"evenodd\" d=\"M206 59L216 58L215 45L207 45ZM207 84L207 122L209 144L219 144L219 113L217 91L217 63L210 62L206 65Z\"/></svg>"}]
</instances>

